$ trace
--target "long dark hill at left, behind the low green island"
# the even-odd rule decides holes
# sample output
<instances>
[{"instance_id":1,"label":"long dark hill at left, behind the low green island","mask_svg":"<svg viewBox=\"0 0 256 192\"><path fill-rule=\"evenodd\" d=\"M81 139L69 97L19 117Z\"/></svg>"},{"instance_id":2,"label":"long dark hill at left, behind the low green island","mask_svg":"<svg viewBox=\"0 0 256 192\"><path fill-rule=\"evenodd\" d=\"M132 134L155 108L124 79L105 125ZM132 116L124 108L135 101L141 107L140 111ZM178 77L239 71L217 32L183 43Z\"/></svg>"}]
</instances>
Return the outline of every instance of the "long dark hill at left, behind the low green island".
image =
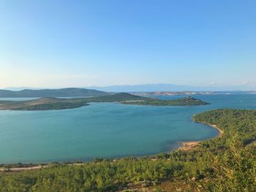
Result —
<instances>
[{"instance_id":1,"label":"long dark hill at left, behind the low green island","mask_svg":"<svg viewBox=\"0 0 256 192\"><path fill-rule=\"evenodd\" d=\"M73 96L106 96L109 93L86 88L61 88L61 89L41 89L22 91L0 90L0 98L3 97L73 97Z\"/></svg>"}]
</instances>

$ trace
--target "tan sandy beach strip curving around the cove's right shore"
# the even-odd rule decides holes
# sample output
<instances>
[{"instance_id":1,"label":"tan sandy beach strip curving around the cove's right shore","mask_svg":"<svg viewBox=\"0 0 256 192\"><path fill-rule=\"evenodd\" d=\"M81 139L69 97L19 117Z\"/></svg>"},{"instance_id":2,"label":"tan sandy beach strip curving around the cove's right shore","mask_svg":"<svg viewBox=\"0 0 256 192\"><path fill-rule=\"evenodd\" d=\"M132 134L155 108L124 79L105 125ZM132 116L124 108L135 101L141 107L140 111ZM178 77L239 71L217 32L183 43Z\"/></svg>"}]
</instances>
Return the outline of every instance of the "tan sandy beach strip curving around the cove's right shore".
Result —
<instances>
[{"instance_id":1,"label":"tan sandy beach strip curving around the cove's right shore","mask_svg":"<svg viewBox=\"0 0 256 192\"><path fill-rule=\"evenodd\" d=\"M205 124L206 126L211 126L212 128L215 128L219 131L219 134L217 135L217 137L213 138L213 139L217 139L217 138L220 138L222 137L224 131L220 128L217 127L217 125L211 125L211 124L208 124L208 123L204 123L204 122L196 122L196 123L203 123ZM182 142L182 145L181 147L178 147L176 150L184 150L184 151L189 151L189 150L192 150L194 147L197 147L200 145L200 142L203 142L203 141L206 141L206 140L201 140L201 141L189 141L189 142Z\"/></svg>"}]
</instances>

